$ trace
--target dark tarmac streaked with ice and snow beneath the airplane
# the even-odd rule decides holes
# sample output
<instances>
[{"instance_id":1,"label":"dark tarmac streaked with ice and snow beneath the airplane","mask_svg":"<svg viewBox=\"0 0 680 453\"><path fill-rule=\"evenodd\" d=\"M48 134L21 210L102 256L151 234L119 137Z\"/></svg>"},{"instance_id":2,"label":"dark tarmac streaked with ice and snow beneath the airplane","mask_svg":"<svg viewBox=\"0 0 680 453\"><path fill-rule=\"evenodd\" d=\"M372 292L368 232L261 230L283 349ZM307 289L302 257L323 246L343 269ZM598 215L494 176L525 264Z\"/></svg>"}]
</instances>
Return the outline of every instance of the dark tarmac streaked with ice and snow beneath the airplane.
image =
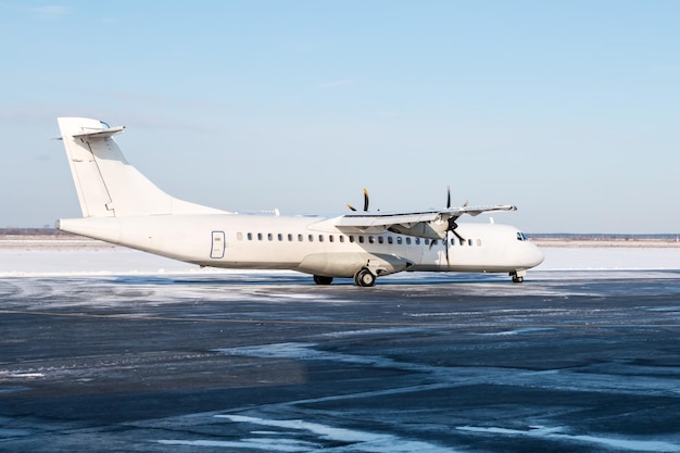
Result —
<instances>
[{"instance_id":1,"label":"dark tarmac streaked with ice and snow beneath the airplane","mask_svg":"<svg viewBox=\"0 0 680 453\"><path fill-rule=\"evenodd\" d=\"M680 272L0 278L0 451L680 452Z\"/></svg>"}]
</instances>

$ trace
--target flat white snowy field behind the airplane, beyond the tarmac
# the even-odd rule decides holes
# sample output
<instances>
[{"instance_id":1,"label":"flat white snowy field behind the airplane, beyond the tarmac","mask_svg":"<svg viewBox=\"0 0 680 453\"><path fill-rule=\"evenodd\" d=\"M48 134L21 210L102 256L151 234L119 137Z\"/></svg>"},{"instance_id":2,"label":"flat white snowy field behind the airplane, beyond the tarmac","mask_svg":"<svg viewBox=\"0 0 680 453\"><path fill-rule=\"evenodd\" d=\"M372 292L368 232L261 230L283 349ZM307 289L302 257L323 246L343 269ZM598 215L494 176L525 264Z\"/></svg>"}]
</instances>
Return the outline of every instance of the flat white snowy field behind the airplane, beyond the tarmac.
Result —
<instances>
[{"instance_id":1,"label":"flat white snowy field behind the airplane, beyond the tarmac","mask_svg":"<svg viewBox=\"0 0 680 453\"><path fill-rule=\"evenodd\" d=\"M556 270L675 270L680 269L680 247L542 247L545 261L529 270L540 278ZM88 240L0 241L0 277L59 275L249 274L244 270L203 268ZM259 273L262 272L252 272ZM407 275L402 273L400 275ZM388 277L398 278L400 275ZM411 275L410 278L413 278Z\"/></svg>"}]
</instances>

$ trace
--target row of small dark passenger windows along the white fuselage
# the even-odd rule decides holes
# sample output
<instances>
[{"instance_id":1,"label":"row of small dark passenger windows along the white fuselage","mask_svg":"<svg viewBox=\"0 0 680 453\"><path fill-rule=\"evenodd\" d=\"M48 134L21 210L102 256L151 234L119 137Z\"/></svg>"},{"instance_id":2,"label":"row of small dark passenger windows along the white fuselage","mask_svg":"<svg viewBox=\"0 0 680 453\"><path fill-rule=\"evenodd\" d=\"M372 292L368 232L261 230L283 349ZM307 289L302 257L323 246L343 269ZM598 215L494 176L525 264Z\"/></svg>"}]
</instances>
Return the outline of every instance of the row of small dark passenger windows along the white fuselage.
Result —
<instances>
[{"instance_id":1,"label":"row of small dark passenger windows along the white fuselage","mask_svg":"<svg viewBox=\"0 0 680 453\"><path fill-rule=\"evenodd\" d=\"M243 235L242 232L237 232L236 234L236 238L240 241L243 240L243 237L245 237L247 240L249 241L279 241L279 242L284 242L284 241L288 241L288 242L336 242L336 240L338 242L358 242L358 243L398 243L398 244L402 244L405 243L406 246L411 246L411 244L415 244L415 246L419 246L421 243L429 246L430 244L430 240L429 239L420 239L420 238L412 238L411 236L406 236L406 237L402 237L402 236L370 236L370 235L291 235L291 234L287 234L284 235L281 232L278 234L274 234L274 232L247 232L245 235ZM478 247L481 247L481 239L477 239L476 241L473 241L473 239L467 239L467 240L463 240L463 239L458 239L458 238L450 238L449 241L451 242L451 246L474 246L475 243ZM432 246L437 246L439 243L439 240L433 240L431 241L433 242ZM443 241L442 241L443 243Z\"/></svg>"}]
</instances>

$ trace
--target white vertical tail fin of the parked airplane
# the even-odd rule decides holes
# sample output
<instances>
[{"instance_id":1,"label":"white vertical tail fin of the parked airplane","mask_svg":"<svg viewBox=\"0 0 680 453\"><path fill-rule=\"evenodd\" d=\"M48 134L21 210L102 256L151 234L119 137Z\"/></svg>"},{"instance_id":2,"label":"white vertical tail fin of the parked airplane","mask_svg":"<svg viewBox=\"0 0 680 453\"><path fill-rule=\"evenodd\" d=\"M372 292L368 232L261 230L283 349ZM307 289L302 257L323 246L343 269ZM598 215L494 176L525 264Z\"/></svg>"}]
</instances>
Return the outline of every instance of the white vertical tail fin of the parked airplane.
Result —
<instances>
[{"instance_id":1,"label":"white vertical tail fin of the parked airplane","mask_svg":"<svg viewBox=\"0 0 680 453\"><path fill-rule=\"evenodd\" d=\"M84 217L224 213L165 193L130 165L113 139L123 127L58 118Z\"/></svg>"}]
</instances>

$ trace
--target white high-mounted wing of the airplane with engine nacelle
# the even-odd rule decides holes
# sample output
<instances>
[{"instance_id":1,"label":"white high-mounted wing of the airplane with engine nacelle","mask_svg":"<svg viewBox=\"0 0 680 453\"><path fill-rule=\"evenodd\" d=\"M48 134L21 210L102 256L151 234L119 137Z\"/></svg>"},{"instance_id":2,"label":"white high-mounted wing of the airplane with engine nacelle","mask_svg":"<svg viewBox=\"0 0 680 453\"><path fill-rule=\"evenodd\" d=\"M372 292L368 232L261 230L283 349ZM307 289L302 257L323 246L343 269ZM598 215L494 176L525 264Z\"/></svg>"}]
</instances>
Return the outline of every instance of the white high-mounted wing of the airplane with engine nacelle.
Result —
<instances>
[{"instance_id":1,"label":"white high-mounted wing of the airplane with engine nacelle","mask_svg":"<svg viewBox=\"0 0 680 453\"><path fill-rule=\"evenodd\" d=\"M457 226L455 221L462 215L476 216L484 212L516 211L511 204L495 206L461 206L443 210L404 212L404 213L352 213L338 217L335 225L344 231L383 232L393 231L402 235L427 239L443 239L446 231Z\"/></svg>"}]
</instances>

